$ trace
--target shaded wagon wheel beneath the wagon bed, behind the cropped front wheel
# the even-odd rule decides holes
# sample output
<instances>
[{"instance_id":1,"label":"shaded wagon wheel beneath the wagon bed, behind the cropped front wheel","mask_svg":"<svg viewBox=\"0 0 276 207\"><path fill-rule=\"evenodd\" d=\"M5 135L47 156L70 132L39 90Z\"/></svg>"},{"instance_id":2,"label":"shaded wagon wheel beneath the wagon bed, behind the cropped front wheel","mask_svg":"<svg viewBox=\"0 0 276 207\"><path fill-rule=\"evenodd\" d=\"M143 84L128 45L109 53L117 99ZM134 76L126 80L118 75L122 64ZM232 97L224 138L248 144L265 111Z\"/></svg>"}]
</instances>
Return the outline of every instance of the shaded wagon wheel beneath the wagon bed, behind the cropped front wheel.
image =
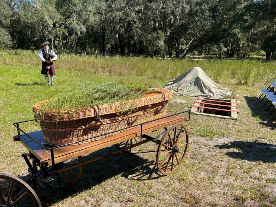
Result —
<instances>
[{"instance_id":1,"label":"shaded wagon wheel beneath the wagon bed, behind the cropped front wheel","mask_svg":"<svg viewBox=\"0 0 276 207\"><path fill-rule=\"evenodd\" d=\"M78 159L70 159L62 163L58 163L57 165L62 165L61 167L67 168L70 166L74 166L76 164L80 164L83 162L82 156L78 156ZM57 170L58 172L58 170ZM66 170L62 173L58 173L57 181L51 183L50 185L53 187L66 188L68 186L72 186L78 182L83 174L83 166L73 168L70 170Z\"/></svg>"}]
</instances>

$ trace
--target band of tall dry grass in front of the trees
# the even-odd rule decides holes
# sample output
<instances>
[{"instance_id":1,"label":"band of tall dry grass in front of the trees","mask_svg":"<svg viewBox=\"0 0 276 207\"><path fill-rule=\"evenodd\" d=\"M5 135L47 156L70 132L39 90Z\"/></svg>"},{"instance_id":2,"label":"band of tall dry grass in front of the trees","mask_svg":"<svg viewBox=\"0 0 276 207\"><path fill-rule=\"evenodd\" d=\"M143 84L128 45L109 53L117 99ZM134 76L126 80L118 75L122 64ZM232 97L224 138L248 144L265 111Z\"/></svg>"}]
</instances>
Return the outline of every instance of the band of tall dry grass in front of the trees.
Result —
<instances>
[{"instance_id":1,"label":"band of tall dry grass in front of the trees","mask_svg":"<svg viewBox=\"0 0 276 207\"><path fill-rule=\"evenodd\" d=\"M31 65L39 67L38 51L0 50L0 64ZM250 60L170 60L145 57L101 57L86 54L61 55L55 62L56 68L90 73L114 74L120 76L144 76L150 79L169 81L183 72L198 66L210 78L219 83L267 85L276 78L276 63Z\"/></svg>"}]
</instances>

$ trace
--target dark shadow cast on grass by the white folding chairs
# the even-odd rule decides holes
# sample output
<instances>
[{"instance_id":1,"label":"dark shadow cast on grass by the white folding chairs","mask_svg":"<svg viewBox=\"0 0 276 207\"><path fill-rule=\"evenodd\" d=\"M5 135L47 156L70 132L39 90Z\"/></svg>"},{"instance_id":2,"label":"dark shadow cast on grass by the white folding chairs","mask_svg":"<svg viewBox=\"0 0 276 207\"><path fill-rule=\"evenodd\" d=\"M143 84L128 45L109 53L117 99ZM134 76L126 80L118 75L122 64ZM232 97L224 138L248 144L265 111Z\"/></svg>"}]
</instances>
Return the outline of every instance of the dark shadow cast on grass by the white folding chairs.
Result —
<instances>
[{"instance_id":1,"label":"dark shadow cast on grass by the white folding chairs","mask_svg":"<svg viewBox=\"0 0 276 207\"><path fill-rule=\"evenodd\" d=\"M271 121L271 119L273 118L274 115L273 114L269 115L269 113L273 109L273 106L271 106L271 108L266 111L266 109L269 107L271 102L267 103L264 106L264 104L267 101L267 98L264 98L264 100L262 102L260 102L261 98L259 100L257 100L257 97L245 96L244 98L246 100L248 107L250 108L250 110L252 112L252 116L258 117L261 120L259 122L259 124L269 127L271 130L276 129L275 122Z\"/></svg>"}]
</instances>

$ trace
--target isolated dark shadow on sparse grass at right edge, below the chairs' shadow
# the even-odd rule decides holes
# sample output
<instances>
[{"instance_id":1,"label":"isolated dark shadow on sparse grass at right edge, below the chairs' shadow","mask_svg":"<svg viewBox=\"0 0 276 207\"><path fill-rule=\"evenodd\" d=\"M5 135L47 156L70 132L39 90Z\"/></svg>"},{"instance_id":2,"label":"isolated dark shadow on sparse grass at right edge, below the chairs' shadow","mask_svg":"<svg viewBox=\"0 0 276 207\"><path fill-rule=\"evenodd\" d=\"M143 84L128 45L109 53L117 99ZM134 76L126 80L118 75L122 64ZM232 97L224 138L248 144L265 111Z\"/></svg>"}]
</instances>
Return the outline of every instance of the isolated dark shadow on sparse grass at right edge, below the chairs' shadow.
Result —
<instances>
[{"instance_id":1,"label":"isolated dark shadow on sparse grass at right edge, below the chairs' shadow","mask_svg":"<svg viewBox=\"0 0 276 207\"><path fill-rule=\"evenodd\" d=\"M235 159L261 162L276 162L276 145L248 142L248 141L233 141L229 144L215 145L220 149L235 149L241 152L227 152L226 155Z\"/></svg>"}]
</instances>

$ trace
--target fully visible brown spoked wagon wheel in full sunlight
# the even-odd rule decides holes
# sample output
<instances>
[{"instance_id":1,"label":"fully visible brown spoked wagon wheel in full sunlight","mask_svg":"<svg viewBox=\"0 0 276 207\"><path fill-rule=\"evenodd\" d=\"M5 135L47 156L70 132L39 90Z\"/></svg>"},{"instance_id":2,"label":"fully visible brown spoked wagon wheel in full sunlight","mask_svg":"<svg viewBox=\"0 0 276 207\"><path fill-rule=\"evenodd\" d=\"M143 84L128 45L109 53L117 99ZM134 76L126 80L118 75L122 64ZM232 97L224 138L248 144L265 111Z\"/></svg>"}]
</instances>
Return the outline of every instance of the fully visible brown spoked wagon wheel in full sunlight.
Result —
<instances>
[{"instance_id":1,"label":"fully visible brown spoked wagon wheel in full sunlight","mask_svg":"<svg viewBox=\"0 0 276 207\"><path fill-rule=\"evenodd\" d=\"M183 124L170 127L160 140L156 165L160 173L169 175L179 168L189 145L189 133Z\"/></svg>"}]
</instances>

